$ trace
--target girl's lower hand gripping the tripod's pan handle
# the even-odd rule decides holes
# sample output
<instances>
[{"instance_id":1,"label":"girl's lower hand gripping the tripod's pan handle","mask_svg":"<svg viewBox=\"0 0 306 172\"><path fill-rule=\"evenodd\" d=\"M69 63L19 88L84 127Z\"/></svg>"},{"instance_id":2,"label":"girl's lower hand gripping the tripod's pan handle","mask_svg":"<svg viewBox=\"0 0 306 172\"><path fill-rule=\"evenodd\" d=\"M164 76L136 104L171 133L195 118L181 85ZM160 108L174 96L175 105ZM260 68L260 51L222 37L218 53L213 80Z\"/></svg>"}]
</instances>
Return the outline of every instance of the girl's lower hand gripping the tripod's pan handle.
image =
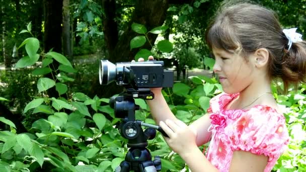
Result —
<instances>
[{"instance_id":1,"label":"girl's lower hand gripping the tripod's pan handle","mask_svg":"<svg viewBox=\"0 0 306 172\"><path fill-rule=\"evenodd\" d=\"M188 153L191 148L196 147L196 132L180 120L166 120L160 122L162 129L169 138L164 137L171 149L181 156Z\"/></svg>"}]
</instances>

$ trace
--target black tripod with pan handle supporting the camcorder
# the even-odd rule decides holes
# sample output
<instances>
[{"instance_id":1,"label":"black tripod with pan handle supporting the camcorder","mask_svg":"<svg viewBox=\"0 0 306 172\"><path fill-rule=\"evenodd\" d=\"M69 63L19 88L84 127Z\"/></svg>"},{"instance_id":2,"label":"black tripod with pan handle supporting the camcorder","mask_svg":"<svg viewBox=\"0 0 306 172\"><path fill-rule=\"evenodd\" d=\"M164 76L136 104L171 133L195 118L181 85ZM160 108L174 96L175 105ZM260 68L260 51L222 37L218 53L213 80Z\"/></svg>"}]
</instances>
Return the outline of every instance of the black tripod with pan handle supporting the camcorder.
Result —
<instances>
[{"instance_id":1,"label":"black tripod with pan handle supporting the camcorder","mask_svg":"<svg viewBox=\"0 0 306 172\"><path fill-rule=\"evenodd\" d=\"M135 110L139 110L139 106L135 105L133 98L153 99L154 94L149 89L127 89L125 92L119 94L118 97L111 98L109 104L114 109L116 118L123 118L119 131L122 137L128 139L127 147L130 147L125 155L125 160L116 168L116 172L125 171L158 171L162 169L162 162L159 156L152 156L146 148L148 145L147 139L153 139L156 136L156 130L167 134L160 126L143 123L135 120ZM141 126L149 127L142 130ZM168 137L168 136L167 136Z\"/></svg>"}]
</instances>

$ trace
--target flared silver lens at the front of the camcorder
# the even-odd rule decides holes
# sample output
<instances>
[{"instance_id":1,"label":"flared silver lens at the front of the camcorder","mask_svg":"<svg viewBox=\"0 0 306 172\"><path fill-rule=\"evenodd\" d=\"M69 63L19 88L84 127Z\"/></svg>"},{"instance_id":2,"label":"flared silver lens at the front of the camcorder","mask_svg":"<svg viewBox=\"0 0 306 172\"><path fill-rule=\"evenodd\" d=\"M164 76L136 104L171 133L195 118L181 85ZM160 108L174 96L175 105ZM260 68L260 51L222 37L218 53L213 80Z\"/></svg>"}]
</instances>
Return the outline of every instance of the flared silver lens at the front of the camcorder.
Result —
<instances>
[{"instance_id":1,"label":"flared silver lens at the front of the camcorder","mask_svg":"<svg viewBox=\"0 0 306 172\"><path fill-rule=\"evenodd\" d=\"M108 60L101 60L99 67L100 84L106 85L116 79L116 65Z\"/></svg>"}]
</instances>

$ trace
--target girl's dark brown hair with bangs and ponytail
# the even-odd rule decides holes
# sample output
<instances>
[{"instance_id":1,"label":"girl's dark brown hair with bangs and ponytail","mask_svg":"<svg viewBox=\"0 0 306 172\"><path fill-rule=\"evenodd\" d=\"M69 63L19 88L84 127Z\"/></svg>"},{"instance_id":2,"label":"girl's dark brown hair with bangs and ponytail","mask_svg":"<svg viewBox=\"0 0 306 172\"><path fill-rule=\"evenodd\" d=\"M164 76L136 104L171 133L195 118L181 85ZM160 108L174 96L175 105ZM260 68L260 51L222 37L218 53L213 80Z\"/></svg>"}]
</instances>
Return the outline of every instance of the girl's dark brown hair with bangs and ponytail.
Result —
<instances>
[{"instance_id":1,"label":"girl's dark brown hair with bangs and ponytail","mask_svg":"<svg viewBox=\"0 0 306 172\"><path fill-rule=\"evenodd\" d=\"M210 49L234 50L244 57L266 48L269 76L281 78L285 92L289 84L297 86L306 81L306 42L292 43L288 50L288 39L277 14L265 7L241 1L221 4L206 30L205 39Z\"/></svg>"}]
</instances>

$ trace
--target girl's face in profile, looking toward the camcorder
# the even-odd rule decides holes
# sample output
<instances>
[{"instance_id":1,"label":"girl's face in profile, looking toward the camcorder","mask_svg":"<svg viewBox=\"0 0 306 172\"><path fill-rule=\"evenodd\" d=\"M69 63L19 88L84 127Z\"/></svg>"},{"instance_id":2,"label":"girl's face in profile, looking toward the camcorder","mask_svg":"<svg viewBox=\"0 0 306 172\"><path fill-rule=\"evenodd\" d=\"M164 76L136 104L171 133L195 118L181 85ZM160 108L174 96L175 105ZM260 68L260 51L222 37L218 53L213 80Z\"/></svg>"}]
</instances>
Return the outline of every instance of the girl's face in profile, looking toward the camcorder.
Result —
<instances>
[{"instance_id":1,"label":"girl's face in profile, looking toward the camcorder","mask_svg":"<svg viewBox=\"0 0 306 172\"><path fill-rule=\"evenodd\" d=\"M236 53L213 49L215 64L213 71L219 76L222 89L227 94L239 93L254 80L254 65Z\"/></svg>"}]
</instances>

